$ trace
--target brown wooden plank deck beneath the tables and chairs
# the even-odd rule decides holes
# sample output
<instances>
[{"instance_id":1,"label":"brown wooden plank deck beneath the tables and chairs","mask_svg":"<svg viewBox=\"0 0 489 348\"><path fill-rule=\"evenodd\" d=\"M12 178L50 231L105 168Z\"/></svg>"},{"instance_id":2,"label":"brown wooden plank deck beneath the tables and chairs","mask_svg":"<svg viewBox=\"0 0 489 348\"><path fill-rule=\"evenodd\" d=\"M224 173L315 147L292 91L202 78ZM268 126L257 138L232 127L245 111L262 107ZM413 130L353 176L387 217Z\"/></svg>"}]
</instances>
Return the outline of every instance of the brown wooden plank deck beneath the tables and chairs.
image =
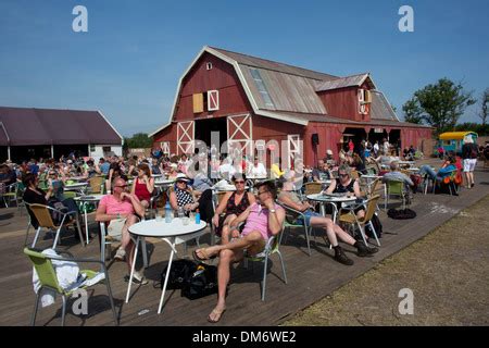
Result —
<instances>
[{"instance_id":1,"label":"brown wooden plank deck beneath the tables and chairs","mask_svg":"<svg viewBox=\"0 0 489 348\"><path fill-rule=\"evenodd\" d=\"M378 253L373 258L358 258L353 253L353 248L344 247L355 262L353 266L344 266L334 261L333 251L326 247L321 237L317 238L317 248L312 248L312 257L309 257L302 231L290 233L280 247L285 256L289 284L286 285L280 281L280 264L278 258L274 256L267 278L266 300L262 302L259 283L261 266L253 268L250 264L246 270L242 265L237 265L229 285L227 311L217 325L280 324L289 315L331 294L374 268L383 259L422 238L460 210L485 197L489 192L489 172L479 166L476 170L476 187L471 190L462 189L460 197L417 194L412 206L417 213L414 220L394 221L383 212L380 219L385 235L380 239L383 246ZM32 265L22 252L25 228L25 214L20 215L15 208L0 210L0 325L28 325L33 312L35 296ZM33 237L30 233L29 240ZM203 243L208 241L205 238L202 239ZM48 247L51 243L52 239L46 239L38 246ZM187 257L193 247L189 247ZM82 248L73 237L65 237L61 248L76 257L100 257L97 238L86 248ZM211 325L206 322L206 315L214 308L215 296L190 301L180 297L179 291L168 290L165 309L162 314L156 314L161 290L153 287L153 281L159 279L170 256L170 248L160 240L148 240L148 249L150 266L145 274L150 283L139 287L129 303L124 303L127 283L123 277L127 273L126 264L116 262L110 265L111 285L121 325ZM185 256L181 246L178 253L180 257ZM88 301L89 314L76 316L68 310L66 325L113 325L105 288L96 286L95 291L89 291L89 295L91 295ZM68 308L70 303L72 302L68 302ZM143 310L149 311L142 314ZM40 309L38 325L59 325L60 322L61 299L58 299L54 306Z\"/></svg>"}]
</instances>

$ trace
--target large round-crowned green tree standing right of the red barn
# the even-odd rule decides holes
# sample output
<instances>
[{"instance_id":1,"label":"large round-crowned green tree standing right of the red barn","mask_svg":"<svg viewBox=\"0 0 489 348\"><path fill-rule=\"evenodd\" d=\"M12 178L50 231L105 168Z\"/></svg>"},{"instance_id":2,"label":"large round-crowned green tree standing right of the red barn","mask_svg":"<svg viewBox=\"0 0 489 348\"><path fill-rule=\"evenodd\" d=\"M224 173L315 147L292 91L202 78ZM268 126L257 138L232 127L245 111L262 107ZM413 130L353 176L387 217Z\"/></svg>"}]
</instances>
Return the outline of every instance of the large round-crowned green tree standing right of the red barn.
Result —
<instances>
[{"instance_id":1,"label":"large round-crowned green tree standing right of the red barn","mask_svg":"<svg viewBox=\"0 0 489 348\"><path fill-rule=\"evenodd\" d=\"M461 83L448 78L415 91L413 100L421 108L423 121L435 127L436 134L454 129L465 109L476 102Z\"/></svg>"}]
</instances>

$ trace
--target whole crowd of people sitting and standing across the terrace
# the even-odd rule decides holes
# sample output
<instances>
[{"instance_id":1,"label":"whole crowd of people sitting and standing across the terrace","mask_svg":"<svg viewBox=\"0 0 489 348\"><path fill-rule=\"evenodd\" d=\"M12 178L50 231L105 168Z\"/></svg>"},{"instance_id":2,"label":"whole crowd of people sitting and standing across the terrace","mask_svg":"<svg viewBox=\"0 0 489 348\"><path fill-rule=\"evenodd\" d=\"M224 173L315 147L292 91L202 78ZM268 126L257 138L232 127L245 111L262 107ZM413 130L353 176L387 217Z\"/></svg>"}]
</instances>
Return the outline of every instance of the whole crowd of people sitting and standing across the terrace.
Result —
<instances>
[{"instance_id":1,"label":"whole crowd of people sitting and standing across the terrace","mask_svg":"<svg viewBox=\"0 0 489 348\"><path fill-rule=\"evenodd\" d=\"M462 152L462 159L459 161L454 153L446 157L438 172L430 166L421 166L419 175L436 181L454 170L463 170L466 174L466 186L473 187L475 163L469 141ZM23 198L27 203L49 206L58 202L70 211L77 211L75 201L63 197L63 185L74 177L87 181L103 177L106 195L98 206L96 221L105 223L110 232L115 232L112 235L120 235L121 246L115 259L125 260L130 272L135 245L128 228L145 216L146 209L151 208L151 197L158 191L154 176L161 175L165 179L175 181L166 197L172 209L183 211L187 215L199 211L202 220L212 224L221 237L218 244L199 248L193 252L198 261L216 257L220 259L217 303L208 316L210 322L215 323L226 310L226 288L230 279L231 264L242 260L244 256L263 251L267 240L283 231L285 220L323 229L331 245L333 259L341 264L352 265L354 261L347 256L340 241L355 248L358 257L368 257L377 252L378 249L365 244L361 236L348 233L343 226L322 215L318 207L301 195L303 184L328 182L322 187L322 192L346 192L362 200L365 194L353 171L359 175L366 174L367 166L375 162L379 167L389 166L389 171L384 173L383 182L403 182L406 189L415 191L417 183L399 167L400 159L412 160L415 153L416 150L411 146L393 156L387 140L383 144L362 141L356 148L350 141L348 150L341 150L337 159L331 150L327 150L314 167L306 166L301 161L296 161L294 167L283 167L281 161L277 160L272 161L268 171L264 165L265 161L246 156L239 160L206 154L189 158L186 154L165 156L160 151L153 152L150 158L112 156L98 161L91 158L63 157L58 161L33 159L18 165L2 164L0 183L23 183ZM256 179L253 190L246 189L250 178ZM133 181L131 184L129 179ZM220 179L230 182L235 189L225 192L218 204L215 204L213 186ZM298 213L290 213L287 208ZM354 214L362 219L365 216L365 208L358 207ZM32 219L35 221L33 214ZM140 271L135 273L134 282L147 283Z\"/></svg>"}]
</instances>

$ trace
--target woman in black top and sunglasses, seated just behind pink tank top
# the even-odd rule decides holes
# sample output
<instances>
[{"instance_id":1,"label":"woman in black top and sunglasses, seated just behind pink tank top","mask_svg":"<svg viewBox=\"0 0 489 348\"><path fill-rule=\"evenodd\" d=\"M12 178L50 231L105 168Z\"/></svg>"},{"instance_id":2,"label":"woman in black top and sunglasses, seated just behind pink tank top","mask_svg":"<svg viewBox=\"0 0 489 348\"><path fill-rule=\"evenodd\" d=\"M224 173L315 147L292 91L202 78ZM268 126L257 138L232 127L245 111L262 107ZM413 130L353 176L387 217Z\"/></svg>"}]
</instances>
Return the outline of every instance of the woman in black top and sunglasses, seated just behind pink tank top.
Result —
<instances>
[{"instance_id":1,"label":"woman in black top and sunglasses, seated just behind pink tank top","mask_svg":"<svg viewBox=\"0 0 489 348\"><path fill-rule=\"evenodd\" d=\"M226 192L215 209L212 223L215 226L215 234L222 236L221 241L226 244L229 241L229 235L223 235L223 226L229 225L239 216L248 207L255 202L254 195L248 192L246 188L247 177L244 175L233 176L233 184L236 186L235 191ZM238 237L237 231L231 237Z\"/></svg>"}]
</instances>

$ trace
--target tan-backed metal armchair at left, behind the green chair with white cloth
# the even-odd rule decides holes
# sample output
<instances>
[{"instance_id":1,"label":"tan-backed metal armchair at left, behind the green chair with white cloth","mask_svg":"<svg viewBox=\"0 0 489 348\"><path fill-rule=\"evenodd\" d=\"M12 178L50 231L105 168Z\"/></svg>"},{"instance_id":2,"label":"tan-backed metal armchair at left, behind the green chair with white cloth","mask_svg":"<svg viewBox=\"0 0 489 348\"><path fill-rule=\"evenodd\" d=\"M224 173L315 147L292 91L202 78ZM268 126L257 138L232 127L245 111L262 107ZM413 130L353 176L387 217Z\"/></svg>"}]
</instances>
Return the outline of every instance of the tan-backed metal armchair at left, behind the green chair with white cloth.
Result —
<instances>
[{"instance_id":1,"label":"tan-backed metal armchair at left, behind the green chair with white cloth","mask_svg":"<svg viewBox=\"0 0 489 348\"><path fill-rule=\"evenodd\" d=\"M76 211L68 211L64 212L54 208L51 208L49 206L43 204L29 204L26 203L28 207L28 210L30 210L34 215L36 216L36 220L39 224L36 231L36 236L34 237L32 247L34 248L37 243L37 238L39 238L39 233L42 228L47 228L48 231L55 231L55 237L54 243L52 245L52 248L55 249L58 245L58 240L60 238L60 233L63 227L67 227L70 225L76 224L78 234L79 234L79 240L82 243L82 246L85 246L84 244L84 237L82 234L82 227L79 226L79 220L78 220L78 213ZM51 211L57 212L61 216L61 222L59 225L54 224L51 217ZM70 220L68 217L72 216L74 219Z\"/></svg>"}]
</instances>

